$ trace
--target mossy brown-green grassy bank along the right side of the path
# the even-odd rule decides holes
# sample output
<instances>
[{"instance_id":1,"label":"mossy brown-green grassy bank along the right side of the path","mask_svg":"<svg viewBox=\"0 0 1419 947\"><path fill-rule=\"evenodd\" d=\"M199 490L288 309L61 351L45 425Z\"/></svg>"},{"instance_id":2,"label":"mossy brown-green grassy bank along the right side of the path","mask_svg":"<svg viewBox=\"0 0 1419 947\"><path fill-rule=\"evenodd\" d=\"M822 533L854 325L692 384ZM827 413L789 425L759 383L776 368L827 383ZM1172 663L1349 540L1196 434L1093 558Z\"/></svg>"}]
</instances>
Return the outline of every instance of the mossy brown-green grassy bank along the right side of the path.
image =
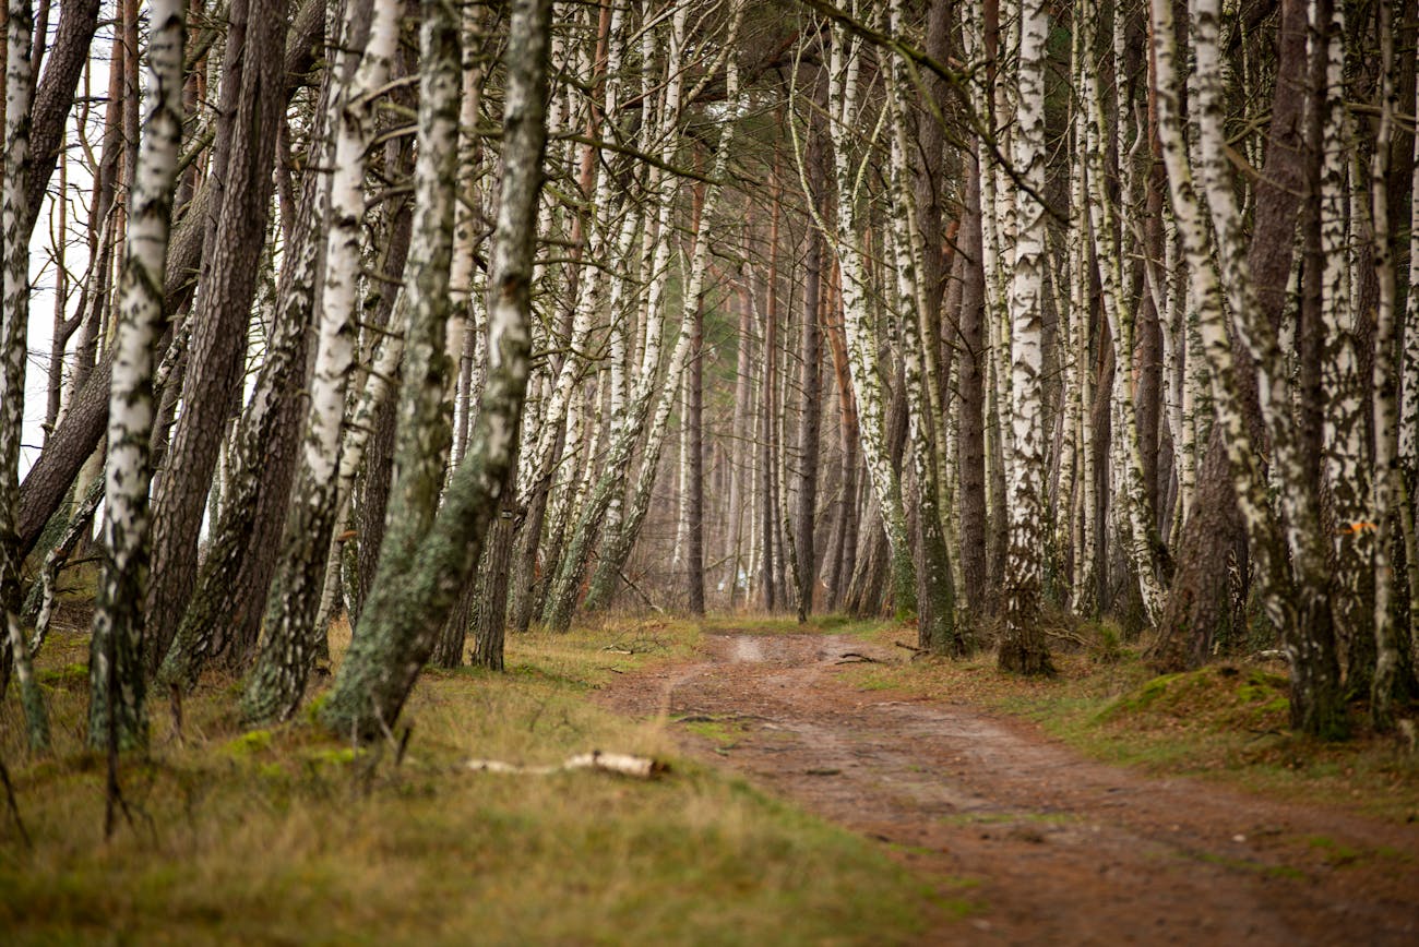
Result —
<instances>
[{"instance_id":1,"label":"mossy brown-green grassy bank along the right side of the path","mask_svg":"<svg viewBox=\"0 0 1419 947\"><path fill-rule=\"evenodd\" d=\"M853 625L850 634L917 644L902 625ZM863 689L891 689L1025 716L1100 760L1159 775L1200 775L1286 798L1347 802L1396 821L1419 821L1419 754L1403 734L1375 734L1355 707L1355 736L1324 743L1287 729L1286 665L1216 662L1154 675L1107 628L1081 627L1050 642L1059 675L1000 675L993 655L921 658L844 668ZM908 652L901 651L905 656ZM1401 710L1401 716L1405 712ZM1410 717L1419 709L1408 710Z\"/></svg>"}]
</instances>

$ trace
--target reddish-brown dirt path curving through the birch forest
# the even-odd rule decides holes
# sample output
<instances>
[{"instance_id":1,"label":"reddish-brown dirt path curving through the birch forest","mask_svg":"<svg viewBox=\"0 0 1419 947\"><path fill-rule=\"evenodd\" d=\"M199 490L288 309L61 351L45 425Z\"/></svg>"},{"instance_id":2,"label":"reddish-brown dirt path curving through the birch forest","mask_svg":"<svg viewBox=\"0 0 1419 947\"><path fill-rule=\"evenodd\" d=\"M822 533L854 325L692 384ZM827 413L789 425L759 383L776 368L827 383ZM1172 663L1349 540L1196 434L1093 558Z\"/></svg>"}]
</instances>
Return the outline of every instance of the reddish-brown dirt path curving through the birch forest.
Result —
<instances>
[{"instance_id":1,"label":"reddish-brown dirt path curving through the birch forest","mask_svg":"<svg viewBox=\"0 0 1419 947\"><path fill-rule=\"evenodd\" d=\"M1419 944L1419 825L1093 763L979 707L860 692L823 635L711 635L606 700L976 903L928 943ZM695 722L724 726L715 740ZM978 885L962 889L961 879Z\"/></svg>"}]
</instances>

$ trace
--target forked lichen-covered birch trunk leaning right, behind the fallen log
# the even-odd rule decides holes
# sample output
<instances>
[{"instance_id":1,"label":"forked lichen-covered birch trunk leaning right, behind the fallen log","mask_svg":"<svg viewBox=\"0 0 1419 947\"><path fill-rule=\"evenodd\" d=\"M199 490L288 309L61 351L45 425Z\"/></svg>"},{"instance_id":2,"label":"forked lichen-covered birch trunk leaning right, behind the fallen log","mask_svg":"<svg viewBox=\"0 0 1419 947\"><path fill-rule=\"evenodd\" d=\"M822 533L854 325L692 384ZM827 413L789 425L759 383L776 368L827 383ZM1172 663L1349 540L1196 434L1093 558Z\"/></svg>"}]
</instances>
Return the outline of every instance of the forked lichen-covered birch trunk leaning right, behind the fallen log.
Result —
<instances>
[{"instance_id":1,"label":"forked lichen-covered birch trunk leaning right, behind the fallen log","mask_svg":"<svg viewBox=\"0 0 1419 947\"><path fill-rule=\"evenodd\" d=\"M426 4L421 126L433 125L433 108L457 115L457 24L436 0ZM502 186L498 223L488 274L488 377L470 437L468 454L448 483L443 509L431 525L409 522L424 491L416 483L396 489L390 530L380 561L380 576L355 629L321 722L338 734L373 739L387 733L414 686L433 635L453 608L478 561L488 523L512 464L518 420L526 396L528 340L531 336L531 276L536 240L536 206L542 189L542 153L546 145L546 61L551 0L515 0L508 35L508 86L504 106ZM448 106L453 105L450 109ZM454 150L451 129L431 139L423 128L423 152ZM430 169L433 170L433 169ZM451 189L451 177L446 179ZM433 197L434 193L430 194ZM451 237L451 194L443 194L438 221ZM448 251L443 279L447 281ZM437 288L430 274L419 292ZM447 424L437 417L443 386L437 373L423 369L441 352L430 346L437 320L433 306L416 306L410 325L410 373L404 390L404 424L400 435L402 481L419 464L429 464L430 439L447 441ZM414 342L417 339L417 343ZM424 349L419 352L419 349ZM414 357L414 356L419 357ZM440 459L436 456L434 459ZM441 464L438 465L441 468ZM419 478L427 481L427 478ZM438 479L433 481L437 499ZM402 513L410 513L409 520ZM409 621L417 614L420 621Z\"/></svg>"}]
</instances>

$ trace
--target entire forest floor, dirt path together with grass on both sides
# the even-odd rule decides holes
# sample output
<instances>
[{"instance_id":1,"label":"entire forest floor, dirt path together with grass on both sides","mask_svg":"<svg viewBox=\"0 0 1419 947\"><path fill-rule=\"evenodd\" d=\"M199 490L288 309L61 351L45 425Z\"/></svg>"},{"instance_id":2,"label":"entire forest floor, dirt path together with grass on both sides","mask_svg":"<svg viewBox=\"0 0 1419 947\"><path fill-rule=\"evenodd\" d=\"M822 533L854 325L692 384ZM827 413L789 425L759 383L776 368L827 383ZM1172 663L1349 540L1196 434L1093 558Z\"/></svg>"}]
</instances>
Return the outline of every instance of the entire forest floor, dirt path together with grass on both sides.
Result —
<instances>
[{"instance_id":1,"label":"entire forest floor, dirt path together with grass on both sides","mask_svg":"<svg viewBox=\"0 0 1419 947\"><path fill-rule=\"evenodd\" d=\"M900 625L614 618L429 669L404 751L247 730L213 671L180 729L152 699L105 839L87 624L40 659L48 753L0 702L7 946L1419 943L1419 756L1288 736L1274 663L1155 678L1074 628L1022 680ZM592 749L670 771L468 767Z\"/></svg>"}]
</instances>

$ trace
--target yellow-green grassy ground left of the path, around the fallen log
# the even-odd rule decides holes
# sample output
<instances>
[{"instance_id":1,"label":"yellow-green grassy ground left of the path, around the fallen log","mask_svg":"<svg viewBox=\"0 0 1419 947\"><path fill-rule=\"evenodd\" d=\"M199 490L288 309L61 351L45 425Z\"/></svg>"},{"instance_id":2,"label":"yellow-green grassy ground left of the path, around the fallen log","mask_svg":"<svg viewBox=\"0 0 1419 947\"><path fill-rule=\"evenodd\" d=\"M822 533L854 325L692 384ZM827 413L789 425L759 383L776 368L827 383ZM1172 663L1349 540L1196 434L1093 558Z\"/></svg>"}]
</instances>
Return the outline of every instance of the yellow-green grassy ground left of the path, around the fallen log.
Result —
<instances>
[{"instance_id":1,"label":"yellow-green grassy ground left of the path, around the fallen log","mask_svg":"<svg viewBox=\"0 0 1419 947\"><path fill-rule=\"evenodd\" d=\"M11 695L0 753L33 838L0 812L0 930L23 943L901 943L935 907L878 848L678 758L663 723L590 702L617 672L687 656L685 622L509 642L508 673L430 672L392 750L305 722L241 733L209 678L179 740L153 706L125 758L132 824L104 842L104 764L82 746L85 641L41 671L57 749L28 757ZM473 757L666 758L600 773L468 773Z\"/></svg>"}]
</instances>

